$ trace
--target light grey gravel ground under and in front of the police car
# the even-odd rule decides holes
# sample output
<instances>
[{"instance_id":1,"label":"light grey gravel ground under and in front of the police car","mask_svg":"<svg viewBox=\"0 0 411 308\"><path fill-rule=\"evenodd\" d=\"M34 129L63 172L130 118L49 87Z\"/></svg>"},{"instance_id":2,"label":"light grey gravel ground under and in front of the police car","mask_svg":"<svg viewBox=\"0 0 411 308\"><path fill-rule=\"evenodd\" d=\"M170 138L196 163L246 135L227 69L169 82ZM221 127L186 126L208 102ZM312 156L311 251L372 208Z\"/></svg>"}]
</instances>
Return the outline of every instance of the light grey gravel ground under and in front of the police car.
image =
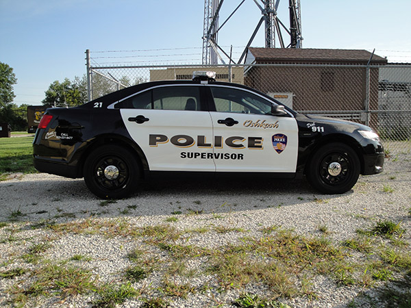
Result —
<instances>
[{"instance_id":1,"label":"light grey gravel ground under and in front of the police car","mask_svg":"<svg viewBox=\"0 0 411 308\"><path fill-rule=\"evenodd\" d=\"M98 287L125 285L125 270L136 265L129 257L136 248L144 251L142 259L155 260L157 266L147 277L131 282L140 296L126 298L117 307L162 307L145 303L150 298L162 298L169 307L234 307L234 300L245 292L275 298L275 303L283 307L388 307L390 298L382 297L382 290L403 292L408 296L407 303L411 303L409 290L401 290L395 283L407 285L403 279L408 278L408 272L411 275L411 264L402 271L390 265L388 281L371 279L365 284L338 283L329 274L309 272L309 292L301 292L306 290L301 287L302 271L292 276L300 292L278 296L273 286L258 281L222 285L221 277L206 270L210 268L210 253L173 259L164 249L164 241L163 246L153 241L158 235L129 233L132 229L147 230L148 226L167 226L167 243L215 252L238 245L245 237L263 238L264 230L273 226L292 229L292 233L305 238L326 237L334 246L341 246L343 241L358 237L358 229L371 230L379 221L391 221L405 230L401 239L373 236L373 247L377 250L390 246L410 257L411 155L400 153L387 159L384 167L382 175L360 177L353 190L341 195L318 194L306 181L250 179L146 184L135 196L112 202L95 197L81 179L13 175L0 182L0 306L25 303L27 307L97 307L101 293L96 290L72 295L55 288L37 296L27 290L39 279L36 270L47 264L89 270ZM83 229L69 229L73 226ZM173 232L179 236L170 238ZM34 253L36 244L43 244L43 248ZM38 259L24 257L28 253ZM78 255L85 257L73 260ZM360 264L375 257L369 255L349 251L346 258ZM194 274L171 273L176 261L182 261L185 272ZM25 272L4 277L17 268ZM164 277L175 285L189 285L189 292L171 294Z\"/></svg>"}]
</instances>

